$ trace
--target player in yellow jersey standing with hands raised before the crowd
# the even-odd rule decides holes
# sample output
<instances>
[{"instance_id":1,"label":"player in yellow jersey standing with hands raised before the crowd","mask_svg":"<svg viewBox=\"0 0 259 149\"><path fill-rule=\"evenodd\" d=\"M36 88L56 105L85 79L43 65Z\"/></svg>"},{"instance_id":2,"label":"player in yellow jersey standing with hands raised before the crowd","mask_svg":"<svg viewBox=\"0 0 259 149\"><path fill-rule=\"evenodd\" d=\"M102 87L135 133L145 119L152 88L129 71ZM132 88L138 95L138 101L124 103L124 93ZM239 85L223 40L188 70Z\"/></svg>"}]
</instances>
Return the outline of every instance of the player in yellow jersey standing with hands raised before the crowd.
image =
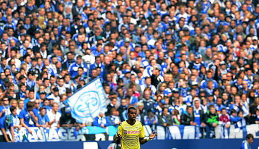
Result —
<instances>
[{"instance_id":1,"label":"player in yellow jersey standing with hands raised before the crowd","mask_svg":"<svg viewBox=\"0 0 259 149\"><path fill-rule=\"evenodd\" d=\"M139 149L140 144L144 144L157 136L157 133L154 134L155 131L153 131L149 138L144 139L145 132L143 129L143 124L139 121L136 121L137 109L135 107L130 107L127 109L127 116L128 119L122 121L118 125L118 131L116 131L116 143L121 143L121 149Z\"/></svg>"}]
</instances>

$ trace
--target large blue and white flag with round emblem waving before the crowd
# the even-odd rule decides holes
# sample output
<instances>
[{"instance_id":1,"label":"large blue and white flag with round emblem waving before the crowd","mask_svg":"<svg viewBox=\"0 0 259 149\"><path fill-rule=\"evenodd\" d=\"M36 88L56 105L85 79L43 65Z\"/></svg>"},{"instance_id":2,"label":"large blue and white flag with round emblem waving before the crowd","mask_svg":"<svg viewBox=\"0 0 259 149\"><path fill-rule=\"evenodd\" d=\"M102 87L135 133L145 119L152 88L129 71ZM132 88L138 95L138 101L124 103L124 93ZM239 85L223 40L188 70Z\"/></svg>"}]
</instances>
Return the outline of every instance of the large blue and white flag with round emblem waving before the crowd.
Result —
<instances>
[{"instance_id":1,"label":"large blue and white flag with round emblem waving before the crowd","mask_svg":"<svg viewBox=\"0 0 259 149\"><path fill-rule=\"evenodd\" d=\"M71 107L72 117L78 122L92 122L106 108L101 79L98 77L92 80L65 102Z\"/></svg>"}]
</instances>

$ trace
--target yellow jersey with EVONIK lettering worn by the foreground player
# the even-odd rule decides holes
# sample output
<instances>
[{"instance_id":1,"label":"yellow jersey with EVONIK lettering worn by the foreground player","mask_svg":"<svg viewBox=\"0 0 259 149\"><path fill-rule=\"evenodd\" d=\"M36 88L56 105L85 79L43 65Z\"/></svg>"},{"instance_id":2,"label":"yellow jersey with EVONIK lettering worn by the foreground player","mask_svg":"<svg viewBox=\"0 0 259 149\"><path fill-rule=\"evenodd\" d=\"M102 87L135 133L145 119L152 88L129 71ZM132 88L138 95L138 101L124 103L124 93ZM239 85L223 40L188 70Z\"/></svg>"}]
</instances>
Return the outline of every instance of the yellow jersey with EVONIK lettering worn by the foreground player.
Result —
<instances>
[{"instance_id":1,"label":"yellow jersey with EVONIK lettering worn by the foreground player","mask_svg":"<svg viewBox=\"0 0 259 149\"><path fill-rule=\"evenodd\" d=\"M122 121L118 125L118 133L121 138L121 149L140 149L140 137L145 137L143 124L136 121L134 125Z\"/></svg>"}]
</instances>

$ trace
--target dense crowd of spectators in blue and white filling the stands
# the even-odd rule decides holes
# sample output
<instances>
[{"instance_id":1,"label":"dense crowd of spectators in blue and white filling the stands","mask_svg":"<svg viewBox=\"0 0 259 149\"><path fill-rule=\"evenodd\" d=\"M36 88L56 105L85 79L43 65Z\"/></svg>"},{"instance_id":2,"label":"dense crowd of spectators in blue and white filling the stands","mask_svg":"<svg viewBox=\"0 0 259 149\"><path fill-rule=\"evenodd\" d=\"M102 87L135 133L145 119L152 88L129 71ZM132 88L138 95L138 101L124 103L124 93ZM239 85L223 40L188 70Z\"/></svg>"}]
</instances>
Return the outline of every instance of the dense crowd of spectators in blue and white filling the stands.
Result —
<instances>
[{"instance_id":1,"label":"dense crowd of spectators in blue and white filling the stands","mask_svg":"<svg viewBox=\"0 0 259 149\"><path fill-rule=\"evenodd\" d=\"M130 106L196 137L257 124L258 14L257 0L2 0L1 141L22 126L116 126ZM107 111L78 123L63 101L98 76Z\"/></svg>"}]
</instances>

